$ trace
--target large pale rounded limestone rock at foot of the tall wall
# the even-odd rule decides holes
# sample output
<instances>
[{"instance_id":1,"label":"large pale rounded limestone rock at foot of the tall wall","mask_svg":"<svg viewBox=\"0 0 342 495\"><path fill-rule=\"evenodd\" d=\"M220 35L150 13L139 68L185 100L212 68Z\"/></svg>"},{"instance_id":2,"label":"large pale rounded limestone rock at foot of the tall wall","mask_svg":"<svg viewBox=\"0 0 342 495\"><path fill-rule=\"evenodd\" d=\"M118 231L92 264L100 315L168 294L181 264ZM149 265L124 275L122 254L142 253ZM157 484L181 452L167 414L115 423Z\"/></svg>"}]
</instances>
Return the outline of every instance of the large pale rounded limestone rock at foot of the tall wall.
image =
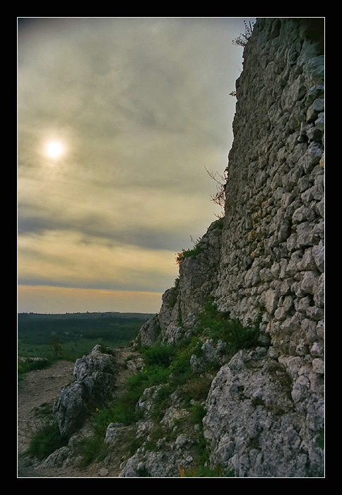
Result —
<instances>
[{"instance_id":1,"label":"large pale rounded limestone rock at foot of the tall wall","mask_svg":"<svg viewBox=\"0 0 342 495\"><path fill-rule=\"evenodd\" d=\"M300 380L294 392L285 366L266 349L237 353L214 378L206 402L212 465L238 477L322 476L324 405L308 389Z\"/></svg>"}]
</instances>

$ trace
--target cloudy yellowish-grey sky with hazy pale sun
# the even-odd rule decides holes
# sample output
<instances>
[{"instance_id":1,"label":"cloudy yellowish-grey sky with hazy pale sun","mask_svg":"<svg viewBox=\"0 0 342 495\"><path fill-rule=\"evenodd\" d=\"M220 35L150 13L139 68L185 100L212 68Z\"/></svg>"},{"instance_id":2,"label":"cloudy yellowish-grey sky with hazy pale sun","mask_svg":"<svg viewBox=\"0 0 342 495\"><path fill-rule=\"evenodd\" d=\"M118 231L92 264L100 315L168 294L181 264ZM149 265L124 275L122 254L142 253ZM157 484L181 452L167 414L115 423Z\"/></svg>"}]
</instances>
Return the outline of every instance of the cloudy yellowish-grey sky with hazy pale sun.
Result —
<instances>
[{"instance_id":1,"label":"cloudy yellowish-grey sky with hazy pale sun","mask_svg":"<svg viewBox=\"0 0 342 495\"><path fill-rule=\"evenodd\" d=\"M18 18L19 313L158 313L221 213L244 20Z\"/></svg>"}]
</instances>

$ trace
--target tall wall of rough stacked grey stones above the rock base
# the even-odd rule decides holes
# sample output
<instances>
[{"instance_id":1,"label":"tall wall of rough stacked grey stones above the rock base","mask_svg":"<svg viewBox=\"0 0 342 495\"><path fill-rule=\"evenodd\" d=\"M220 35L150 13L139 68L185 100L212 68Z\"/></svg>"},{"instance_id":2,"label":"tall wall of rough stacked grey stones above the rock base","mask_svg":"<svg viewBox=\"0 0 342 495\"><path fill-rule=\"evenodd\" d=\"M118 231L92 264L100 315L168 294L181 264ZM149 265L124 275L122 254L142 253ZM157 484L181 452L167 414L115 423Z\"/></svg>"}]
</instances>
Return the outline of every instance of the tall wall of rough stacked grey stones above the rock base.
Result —
<instances>
[{"instance_id":1,"label":"tall wall of rough stacked grey stones above the rock base","mask_svg":"<svg viewBox=\"0 0 342 495\"><path fill-rule=\"evenodd\" d=\"M260 19L244 49L216 299L262 313L274 355L322 371L324 57L309 28Z\"/></svg>"}]
</instances>

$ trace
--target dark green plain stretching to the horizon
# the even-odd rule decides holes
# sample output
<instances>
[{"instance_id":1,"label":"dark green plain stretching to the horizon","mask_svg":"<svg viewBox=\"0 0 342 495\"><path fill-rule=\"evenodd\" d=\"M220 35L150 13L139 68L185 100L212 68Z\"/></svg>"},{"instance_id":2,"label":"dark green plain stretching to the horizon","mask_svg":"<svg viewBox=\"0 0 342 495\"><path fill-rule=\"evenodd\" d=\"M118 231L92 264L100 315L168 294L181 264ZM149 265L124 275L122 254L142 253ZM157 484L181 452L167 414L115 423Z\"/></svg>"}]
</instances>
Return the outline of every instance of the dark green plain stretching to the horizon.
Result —
<instances>
[{"instance_id":1,"label":"dark green plain stretching to the horizon","mask_svg":"<svg viewBox=\"0 0 342 495\"><path fill-rule=\"evenodd\" d=\"M75 361L96 344L124 347L151 316L147 313L19 313L18 356Z\"/></svg>"}]
</instances>

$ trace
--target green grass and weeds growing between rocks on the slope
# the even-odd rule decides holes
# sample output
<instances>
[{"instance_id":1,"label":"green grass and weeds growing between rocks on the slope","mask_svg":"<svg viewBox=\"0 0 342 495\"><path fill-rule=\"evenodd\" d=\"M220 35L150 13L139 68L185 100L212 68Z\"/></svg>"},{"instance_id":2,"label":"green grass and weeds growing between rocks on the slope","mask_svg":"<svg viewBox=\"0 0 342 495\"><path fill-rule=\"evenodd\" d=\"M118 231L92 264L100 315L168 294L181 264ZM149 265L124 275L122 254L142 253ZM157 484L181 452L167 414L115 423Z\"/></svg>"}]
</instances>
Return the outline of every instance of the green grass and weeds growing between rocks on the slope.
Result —
<instances>
[{"instance_id":1,"label":"green grass and weeds growing between rocks on the slope","mask_svg":"<svg viewBox=\"0 0 342 495\"><path fill-rule=\"evenodd\" d=\"M228 344L228 354L232 356L239 349L254 347L259 337L259 320L248 327L243 327L237 320L230 320L227 315L220 313L216 305L210 301L204 311L199 315L199 324L194 334L186 341L179 344L161 344L157 342L152 347L140 347L145 366L126 383L124 394L114 400L110 407L103 410L95 410L91 421L95 428L96 438L92 442L87 441L86 459L91 462L103 455L103 440L107 426L110 423L133 425L141 419L141 412L136 404L146 388L158 385L158 390L153 399L151 419L155 421L153 435L147 438L132 438L131 453L133 454L142 443L148 442L148 449L157 447L160 438L172 438L175 433L172 429L160 426L167 407L172 404L172 392L177 391L177 396L183 402L183 408L188 414L182 419L175 419L175 424L184 431L189 431L189 426L197 425L195 453L198 460L198 469L188 471L182 469L180 476L230 476L222 474L219 467L209 470L205 467L208 460L208 445L202 434L202 419L206 415L205 401L208 395L211 381L218 371L213 363L207 363L206 369L201 375L191 368L190 358L193 355L201 355L201 347L205 340L210 338L214 342L223 340ZM177 430L179 434L179 429ZM153 438L151 438L153 437ZM101 440L102 439L102 440ZM89 449L93 448L90 455Z\"/></svg>"}]
</instances>

